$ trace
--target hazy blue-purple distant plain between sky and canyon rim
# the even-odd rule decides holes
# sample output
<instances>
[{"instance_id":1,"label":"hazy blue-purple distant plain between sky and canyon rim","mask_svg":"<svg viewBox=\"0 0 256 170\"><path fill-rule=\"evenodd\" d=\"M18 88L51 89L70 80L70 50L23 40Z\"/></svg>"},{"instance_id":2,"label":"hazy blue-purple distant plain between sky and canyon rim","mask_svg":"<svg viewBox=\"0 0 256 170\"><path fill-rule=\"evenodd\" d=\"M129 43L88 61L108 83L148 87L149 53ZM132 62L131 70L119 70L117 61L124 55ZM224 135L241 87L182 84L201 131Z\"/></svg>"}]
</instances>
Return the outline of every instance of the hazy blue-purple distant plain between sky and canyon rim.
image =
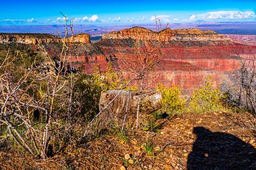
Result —
<instances>
[{"instance_id":1,"label":"hazy blue-purple distant plain between sky and canyon rim","mask_svg":"<svg viewBox=\"0 0 256 170\"><path fill-rule=\"evenodd\" d=\"M74 24L74 34L90 34L91 36L102 36L102 34L112 31L120 31L129 27L145 27L156 31L156 24ZM161 29L168 27L170 29L202 29L212 30L217 34L243 34L256 35L256 22L199 22L199 23L181 23L181 24L163 24ZM22 25L22 26L1 26L1 33L47 33L63 36L65 25Z\"/></svg>"}]
</instances>

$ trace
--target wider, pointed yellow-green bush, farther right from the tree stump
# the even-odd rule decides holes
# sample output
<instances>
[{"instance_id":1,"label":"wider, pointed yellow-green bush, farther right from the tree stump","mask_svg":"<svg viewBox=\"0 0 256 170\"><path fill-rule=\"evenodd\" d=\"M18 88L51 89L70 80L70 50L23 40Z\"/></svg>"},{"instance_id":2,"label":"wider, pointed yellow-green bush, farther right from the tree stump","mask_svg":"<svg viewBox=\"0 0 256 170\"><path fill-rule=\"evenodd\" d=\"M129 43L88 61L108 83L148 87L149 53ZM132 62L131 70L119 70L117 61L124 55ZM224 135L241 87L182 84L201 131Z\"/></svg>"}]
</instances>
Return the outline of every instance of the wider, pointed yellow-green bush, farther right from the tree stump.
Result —
<instances>
[{"instance_id":1,"label":"wider, pointed yellow-green bush, farther right from the tree stump","mask_svg":"<svg viewBox=\"0 0 256 170\"><path fill-rule=\"evenodd\" d=\"M205 85L196 89L188 103L188 112L204 113L223 110L221 101L224 99L219 89L213 88L211 77L207 78Z\"/></svg>"}]
</instances>

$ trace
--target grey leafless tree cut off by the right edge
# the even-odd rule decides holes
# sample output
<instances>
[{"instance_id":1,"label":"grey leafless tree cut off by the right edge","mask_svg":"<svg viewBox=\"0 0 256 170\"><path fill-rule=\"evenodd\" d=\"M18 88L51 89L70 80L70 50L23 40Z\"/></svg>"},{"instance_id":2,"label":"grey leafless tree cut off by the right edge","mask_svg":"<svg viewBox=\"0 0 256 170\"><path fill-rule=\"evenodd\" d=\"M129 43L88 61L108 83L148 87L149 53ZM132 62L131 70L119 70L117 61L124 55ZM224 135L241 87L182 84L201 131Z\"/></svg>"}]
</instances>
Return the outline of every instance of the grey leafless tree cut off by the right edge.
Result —
<instances>
[{"instance_id":1,"label":"grey leafless tree cut off by the right edge","mask_svg":"<svg viewBox=\"0 0 256 170\"><path fill-rule=\"evenodd\" d=\"M223 83L221 89L227 93L228 103L256 114L256 56L244 59L239 49L233 52L241 59L241 67L230 74L231 81Z\"/></svg>"}]
</instances>

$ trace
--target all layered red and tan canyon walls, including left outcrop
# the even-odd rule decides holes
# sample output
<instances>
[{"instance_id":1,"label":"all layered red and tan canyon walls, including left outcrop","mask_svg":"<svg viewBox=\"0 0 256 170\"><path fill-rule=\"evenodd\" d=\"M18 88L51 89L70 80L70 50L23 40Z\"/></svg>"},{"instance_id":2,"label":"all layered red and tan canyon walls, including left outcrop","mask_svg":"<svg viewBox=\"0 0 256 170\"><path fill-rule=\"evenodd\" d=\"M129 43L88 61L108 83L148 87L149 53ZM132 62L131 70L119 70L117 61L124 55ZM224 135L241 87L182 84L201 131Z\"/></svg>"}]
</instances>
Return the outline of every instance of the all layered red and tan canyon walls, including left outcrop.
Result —
<instances>
[{"instance_id":1,"label":"all layered red and tan canyon walls, including left outcrop","mask_svg":"<svg viewBox=\"0 0 256 170\"><path fill-rule=\"evenodd\" d=\"M148 73L145 85L156 87L161 82L168 87L182 87L184 94L191 94L208 76L212 76L216 86L220 86L232 71L241 67L242 60L254 59L256 44L250 40L252 38L220 35L200 29L163 29L155 32L143 27L132 27L103 34L97 43L90 41L89 34L76 34L67 41L74 42L68 59L72 60L74 67L81 67L88 74L92 74L96 66L100 71L106 71L108 62L111 62L114 69L126 78L131 78L132 74L124 69L122 60L138 62L134 60L134 45L137 41L157 42L163 57ZM51 34L0 34L2 44L19 43L28 48L44 44L50 55L60 53L61 42L63 39Z\"/></svg>"}]
</instances>

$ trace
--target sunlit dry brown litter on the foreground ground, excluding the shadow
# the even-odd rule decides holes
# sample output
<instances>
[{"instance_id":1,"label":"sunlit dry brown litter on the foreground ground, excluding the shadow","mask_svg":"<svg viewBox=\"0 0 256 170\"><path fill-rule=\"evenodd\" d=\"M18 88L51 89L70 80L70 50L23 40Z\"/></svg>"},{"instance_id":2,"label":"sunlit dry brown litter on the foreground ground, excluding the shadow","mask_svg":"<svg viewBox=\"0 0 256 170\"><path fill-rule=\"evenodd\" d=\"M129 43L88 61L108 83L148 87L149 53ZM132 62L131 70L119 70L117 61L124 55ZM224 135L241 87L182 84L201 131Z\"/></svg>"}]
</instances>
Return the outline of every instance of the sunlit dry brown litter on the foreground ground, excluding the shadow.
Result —
<instances>
[{"instance_id":1,"label":"sunlit dry brown litter on the foreground ground, excluding the shadow","mask_svg":"<svg viewBox=\"0 0 256 170\"><path fill-rule=\"evenodd\" d=\"M225 132L256 147L252 125L254 117L238 113L187 113L178 117L164 118L160 132L130 131L129 143L106 134L74 150L69 146L47 160L33 160L14 150L0 151L2 169L187 169L189 153L196 140L194 127L205 127L212 132ZM161 122L159 122L161 123ZM248 126L246 126L248 125ZM143 150L146 142L152 142L153 155ZM125 154L132 160L125 160ZM231 154L231 153L230 153ZM256 155L255 155L256 159Z\"/></svg>"}]
</instances>

